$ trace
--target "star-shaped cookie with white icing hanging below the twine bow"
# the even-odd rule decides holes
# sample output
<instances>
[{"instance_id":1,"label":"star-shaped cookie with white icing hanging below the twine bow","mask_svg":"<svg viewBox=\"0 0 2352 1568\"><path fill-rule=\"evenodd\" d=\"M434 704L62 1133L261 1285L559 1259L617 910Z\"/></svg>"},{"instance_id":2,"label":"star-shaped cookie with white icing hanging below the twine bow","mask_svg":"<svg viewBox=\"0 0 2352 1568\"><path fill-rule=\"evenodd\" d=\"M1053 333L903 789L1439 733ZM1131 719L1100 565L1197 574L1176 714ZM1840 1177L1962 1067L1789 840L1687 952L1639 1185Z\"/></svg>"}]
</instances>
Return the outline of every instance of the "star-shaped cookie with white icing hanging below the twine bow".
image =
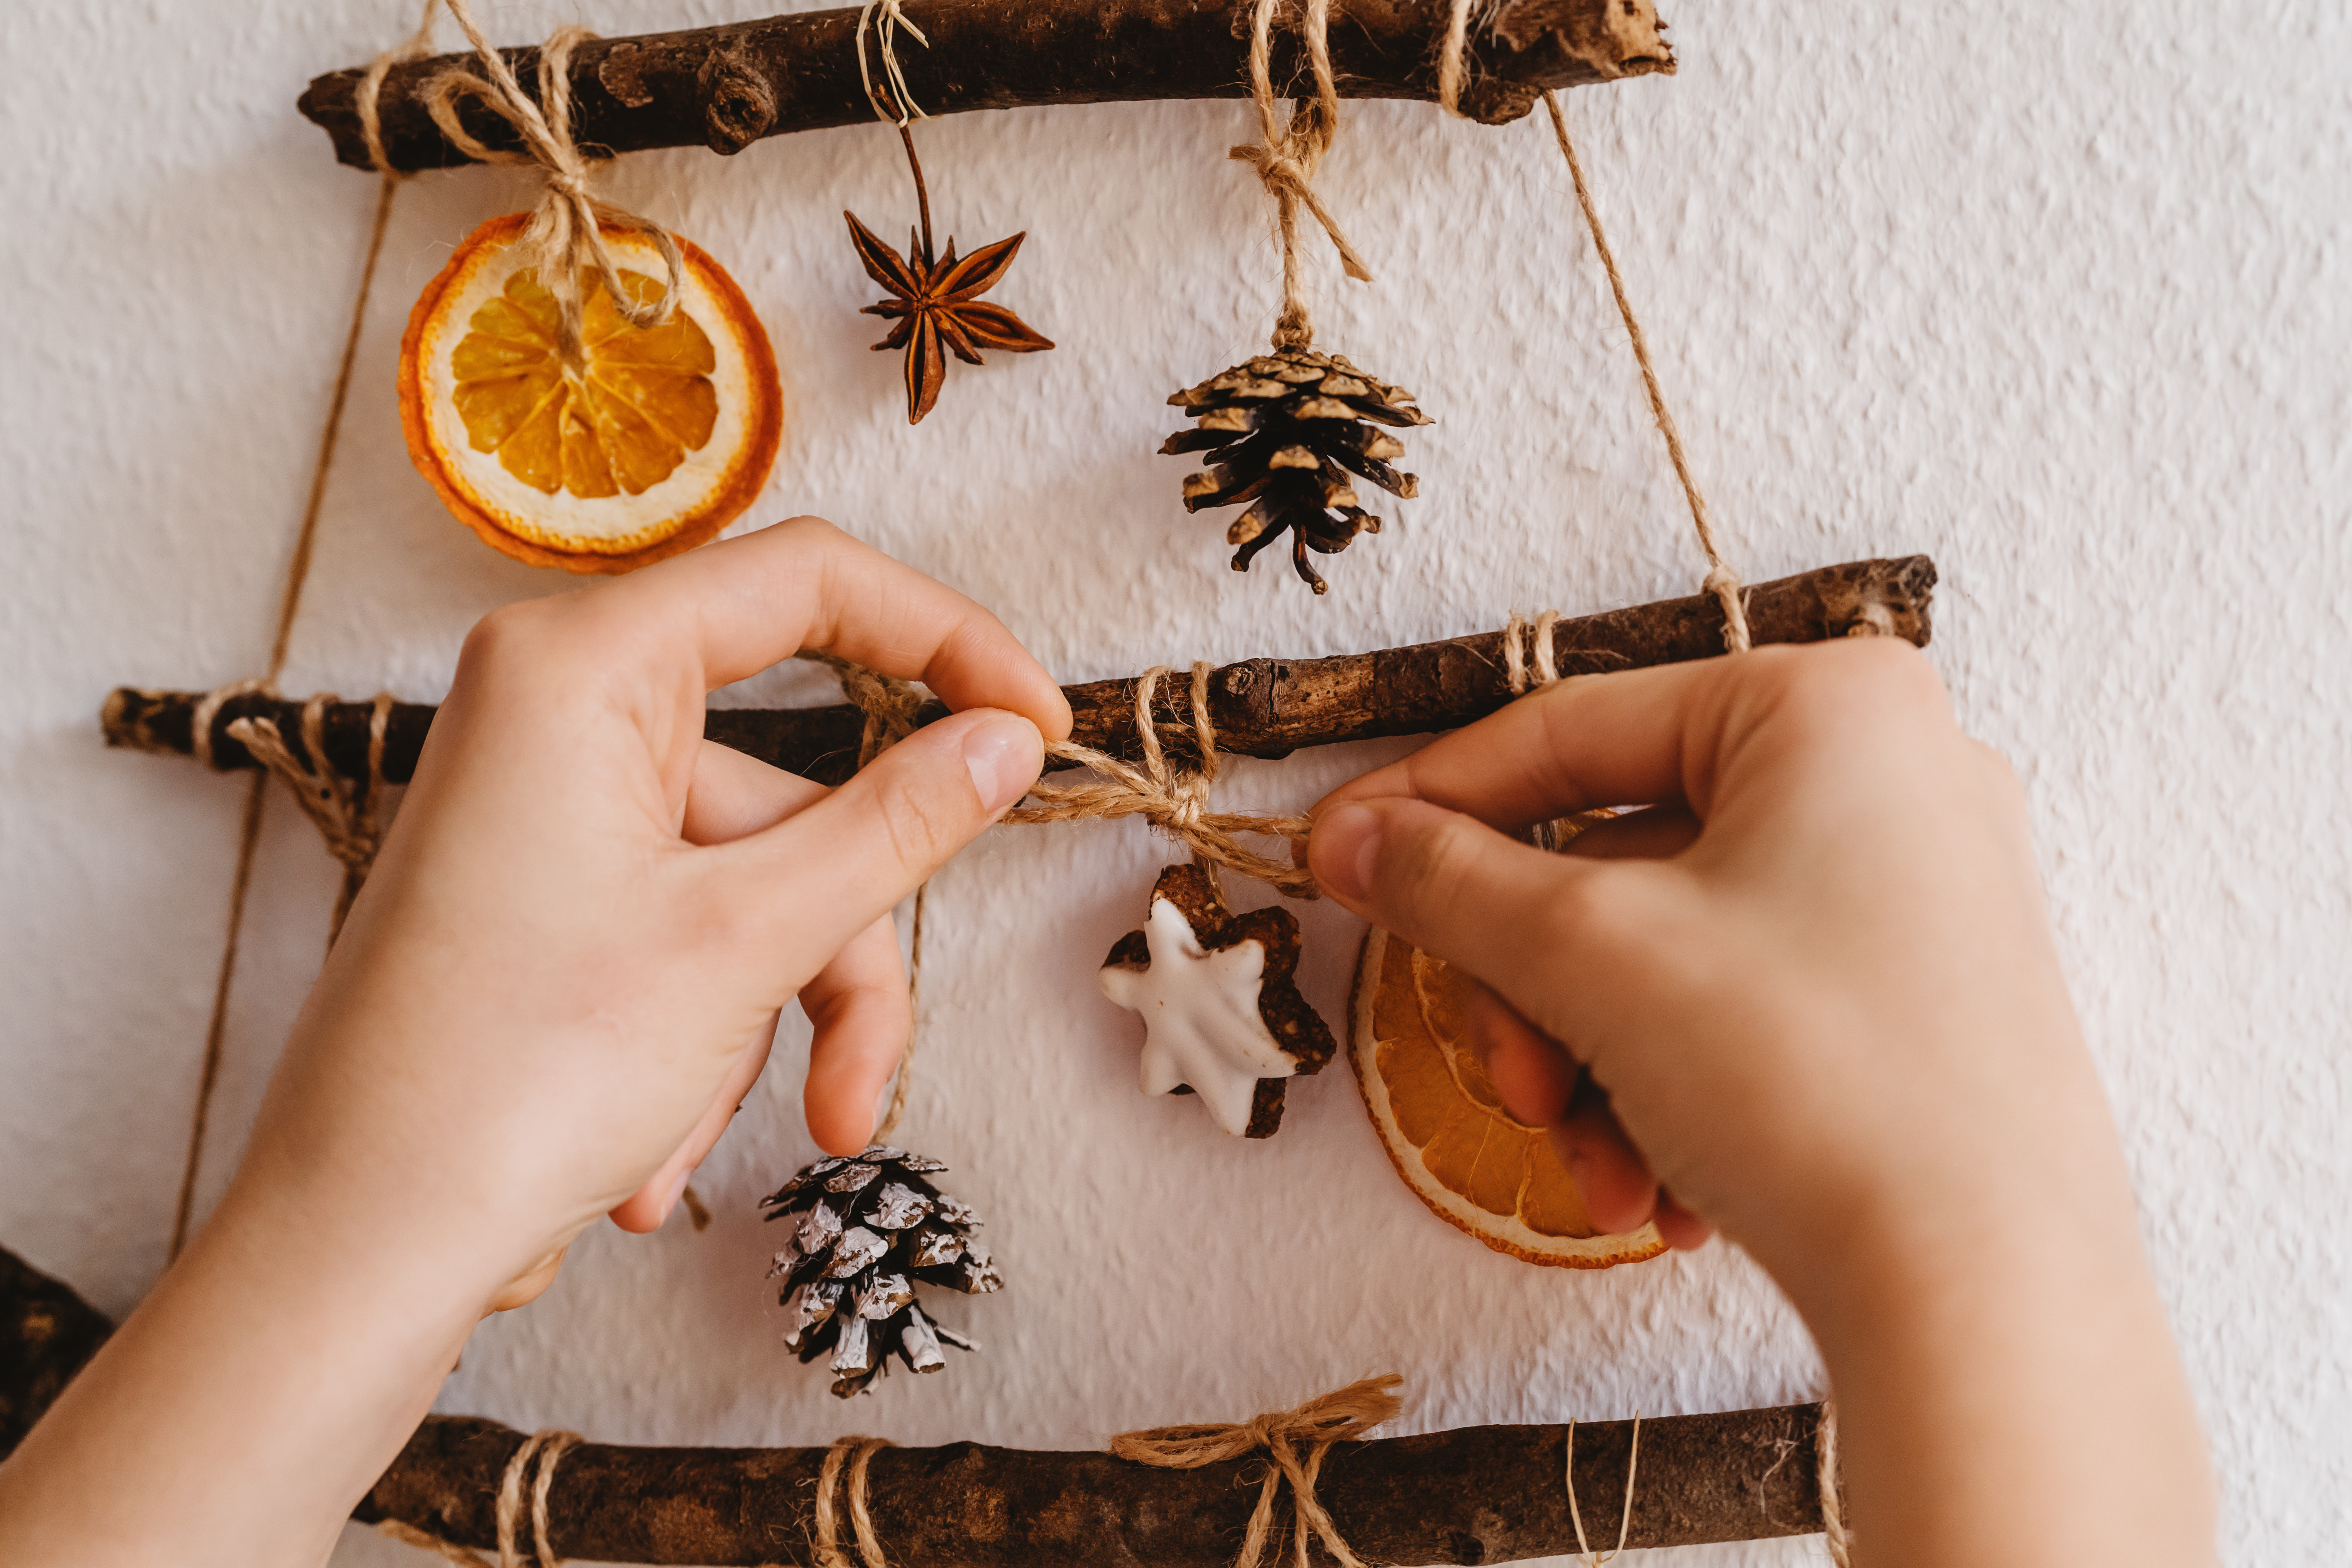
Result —
<instances>
[{"instance_id":1,"label":"star-shaped cookie with white icing hanging below the twine bow","mask_svg":"<svg viewBox=\"0 0 2352 1568\"><path fill-rule=\"evenodd\" d=\"M1197 1093L1242 1138L1272 1138L1294 1074L1338 1048L1298 994L1298 917L1225 907L1202 865L1171 865L1143 931L1103 959L1103 994L1143 1013L1143 1093Z\"/></svg>"}]
</instances>

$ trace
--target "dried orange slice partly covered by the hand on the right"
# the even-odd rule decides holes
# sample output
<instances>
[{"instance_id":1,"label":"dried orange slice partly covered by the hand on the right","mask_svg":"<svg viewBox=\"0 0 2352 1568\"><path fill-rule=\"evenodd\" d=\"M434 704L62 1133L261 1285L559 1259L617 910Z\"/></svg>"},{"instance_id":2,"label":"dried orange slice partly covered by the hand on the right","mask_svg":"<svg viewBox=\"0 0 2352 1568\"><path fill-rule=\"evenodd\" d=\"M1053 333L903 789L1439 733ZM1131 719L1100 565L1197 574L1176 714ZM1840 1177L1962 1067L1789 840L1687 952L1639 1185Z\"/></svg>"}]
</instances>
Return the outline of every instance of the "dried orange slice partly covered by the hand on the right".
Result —
<instances>
[{"instance_id":1,"label":"dried orange slice partly covered by the hand on the right","mask_svg":"<svg viewBox=\"0 0 2352 1568\"><path fill-rule=\"evenodd\" d=\"M1355 966L1348 1060L1397 1175L1498 1253L1606 1269L1665 1251L1656 1225L1597 1234L1543 1128L1503 1110L1463 1030L1470 980L1374 926Z\"/></svg>"}]
</instances>

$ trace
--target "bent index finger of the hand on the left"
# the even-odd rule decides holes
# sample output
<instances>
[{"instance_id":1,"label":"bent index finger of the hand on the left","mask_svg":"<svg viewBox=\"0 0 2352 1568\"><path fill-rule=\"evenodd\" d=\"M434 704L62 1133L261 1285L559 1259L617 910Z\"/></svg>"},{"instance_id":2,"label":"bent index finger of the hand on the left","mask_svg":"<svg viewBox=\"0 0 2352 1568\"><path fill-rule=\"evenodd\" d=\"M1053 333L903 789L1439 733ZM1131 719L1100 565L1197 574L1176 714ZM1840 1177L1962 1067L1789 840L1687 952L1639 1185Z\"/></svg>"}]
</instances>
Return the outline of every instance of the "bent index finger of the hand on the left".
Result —
<instances>
[{"instance_id":1,"label":"bent index finger of the hand on the left","mask_svg":"<svg viewBox=\"0 0 2352 1568\"><path fill-rule=\"evenodd\" d=\"M1049 741L1070 703L1002 621L821 517L793 517L630 574L602 595L633 635L675 639L724 686L800 649L920 679L948 708L1004 708Z\"/></svg>"}]
</instances>

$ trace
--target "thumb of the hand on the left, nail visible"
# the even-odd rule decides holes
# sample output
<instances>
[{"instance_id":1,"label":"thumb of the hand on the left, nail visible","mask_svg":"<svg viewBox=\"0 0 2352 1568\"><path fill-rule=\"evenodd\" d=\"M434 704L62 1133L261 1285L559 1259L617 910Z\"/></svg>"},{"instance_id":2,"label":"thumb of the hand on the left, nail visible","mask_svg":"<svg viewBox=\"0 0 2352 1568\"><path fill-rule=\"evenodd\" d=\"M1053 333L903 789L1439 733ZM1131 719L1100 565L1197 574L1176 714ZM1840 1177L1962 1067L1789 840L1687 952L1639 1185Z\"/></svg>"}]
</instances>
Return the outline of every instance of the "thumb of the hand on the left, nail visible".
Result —
<instances>
[{"instance_id":1,"label":"thumb of the hand on the left, nail visible","mask_svg":"<svg viewBox=\"0 0 2352 1568\"><path fill-rule=\"evenodd\" d=\"M1016 712L974 708L917 729L797 816L706 851L717 907L739 917L743 938L802 959L797 990L1021 799L1042 766L1044 738Z\"/></svg>"}]
</instances>

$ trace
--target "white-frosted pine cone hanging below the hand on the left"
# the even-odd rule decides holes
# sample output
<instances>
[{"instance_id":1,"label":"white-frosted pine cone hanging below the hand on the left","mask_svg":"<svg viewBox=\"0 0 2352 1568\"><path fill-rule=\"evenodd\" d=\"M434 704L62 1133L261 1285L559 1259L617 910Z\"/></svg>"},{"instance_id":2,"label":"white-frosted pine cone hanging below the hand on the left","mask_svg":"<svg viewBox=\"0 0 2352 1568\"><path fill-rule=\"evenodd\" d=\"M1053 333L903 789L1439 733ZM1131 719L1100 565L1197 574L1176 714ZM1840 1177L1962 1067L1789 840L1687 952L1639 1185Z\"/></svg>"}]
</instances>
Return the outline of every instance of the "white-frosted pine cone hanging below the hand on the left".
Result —
<instances>
[{"instance_id":1,"label":"white-frosted pine cone hanging below the hand on the left","mask_svg":"<svg viewBox=\"0 0 2352 1568\"><path fill-rule=\"evenodd\" d=\"M800 1215L771 1279L783 1279L783 1342L800 1361L833 1352L833 1392L863 1394L896 1354L908 1371L948 1363L941 1342L978 1349L915 1305L915 1281L967 1295L1002 1291L1004 1276L971 1237L981 1220L924 1180L948 1166L889 1145L856 1159L818 1159L760 1199L769 1220Z\"/></svg>"}]
</instances>

